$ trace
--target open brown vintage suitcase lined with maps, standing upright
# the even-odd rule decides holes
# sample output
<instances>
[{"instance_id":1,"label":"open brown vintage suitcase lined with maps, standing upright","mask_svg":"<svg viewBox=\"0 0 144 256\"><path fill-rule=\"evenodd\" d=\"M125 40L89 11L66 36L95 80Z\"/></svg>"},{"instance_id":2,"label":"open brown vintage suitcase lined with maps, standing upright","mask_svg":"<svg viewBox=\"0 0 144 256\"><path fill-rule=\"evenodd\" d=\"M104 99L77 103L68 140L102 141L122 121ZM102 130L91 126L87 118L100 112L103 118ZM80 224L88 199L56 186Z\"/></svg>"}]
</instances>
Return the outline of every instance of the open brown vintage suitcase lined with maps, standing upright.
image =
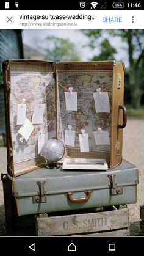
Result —
<instances>
[{"instance_id":1,"label":"open brown vintage suitcase lined with maps, standing upright","mask_svg":"<svg viewBox=\"0 0 144 256\"><path fill-rule=\"evenodd\" d=\"M65 144L64 161L74 159L73 169L79 159L104 159L109 168L121 163L126 126L122 63L8 60L3 70L9 175L46 166L40 148L52 137ZM74 142L66 144L66 131L74 132ZM87 139L86 149L79 136Z\"/></svg>"}]
</instances>

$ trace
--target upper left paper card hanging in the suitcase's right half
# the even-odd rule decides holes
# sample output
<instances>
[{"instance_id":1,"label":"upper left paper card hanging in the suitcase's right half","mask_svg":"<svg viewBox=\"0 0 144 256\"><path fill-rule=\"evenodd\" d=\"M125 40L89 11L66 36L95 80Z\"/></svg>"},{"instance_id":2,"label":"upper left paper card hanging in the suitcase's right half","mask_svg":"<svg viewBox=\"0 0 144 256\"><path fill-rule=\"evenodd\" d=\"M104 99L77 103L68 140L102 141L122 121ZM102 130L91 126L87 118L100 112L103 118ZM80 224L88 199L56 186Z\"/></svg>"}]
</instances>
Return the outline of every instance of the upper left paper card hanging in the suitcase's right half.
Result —
<instances>
[{"instance_id":1,"label":"upper left paper card hanging in the suitcase's right half","mask_svg":"<svg viewBox=\"0 0 144 256\"><path fill-rule=\"evenodd\" d=\"M65 108L77 111L77 92L65 92Z\"/></svg>"}]
</instances>

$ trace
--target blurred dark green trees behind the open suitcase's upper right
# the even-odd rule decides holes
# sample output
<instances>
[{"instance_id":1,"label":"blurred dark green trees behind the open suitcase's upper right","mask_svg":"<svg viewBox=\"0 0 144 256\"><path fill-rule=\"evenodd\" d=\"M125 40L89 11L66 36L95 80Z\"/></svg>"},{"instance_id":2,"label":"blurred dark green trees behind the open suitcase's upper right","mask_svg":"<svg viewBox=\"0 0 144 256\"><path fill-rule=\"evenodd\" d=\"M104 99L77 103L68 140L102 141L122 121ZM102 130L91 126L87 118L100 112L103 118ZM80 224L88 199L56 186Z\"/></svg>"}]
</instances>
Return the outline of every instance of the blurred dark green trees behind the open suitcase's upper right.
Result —
<instances>
[{"instance_id":1,"label":"blurred dark green trees behind the open suitcase's upper right","mask_svg":"<svg viewBox=\"0 0 144 256\"><path fill-rule=\"evenodd\" d=\"M100 49L100 53L92 60L115 59L118 49L110 45L108 38L111 37L112 40L112 37L119 37L126 42L125 50L128 54L129 68L125 71L124 97L126 103L131 103L132 108L140 109L140 106L144 104L144 30L84 29L81 32L89 38L88 46L91 49Z\"/></svg>"}]
</instances>

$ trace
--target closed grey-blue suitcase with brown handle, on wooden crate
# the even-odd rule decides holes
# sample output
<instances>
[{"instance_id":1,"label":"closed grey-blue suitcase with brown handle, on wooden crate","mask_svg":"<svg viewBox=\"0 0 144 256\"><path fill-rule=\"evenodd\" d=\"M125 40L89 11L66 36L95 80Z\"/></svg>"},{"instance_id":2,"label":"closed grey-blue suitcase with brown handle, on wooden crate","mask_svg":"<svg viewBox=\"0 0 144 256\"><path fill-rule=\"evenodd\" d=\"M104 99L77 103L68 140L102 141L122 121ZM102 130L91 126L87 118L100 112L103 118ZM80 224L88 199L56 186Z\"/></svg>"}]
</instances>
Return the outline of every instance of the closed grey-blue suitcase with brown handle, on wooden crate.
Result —
<instances>
[{"instance_id":1,"label":"closed grey-blue suitcase with brown handle, on wooden crate","mask_svg":"<svg viewBox=\"0 0 144 256\"><path fill-rule=\"evenodd\" d=\"M41 168L9 178L20 216L135 203L139 183L137 168L125 160L106 171Z\"/></svg>"}]
</instances>

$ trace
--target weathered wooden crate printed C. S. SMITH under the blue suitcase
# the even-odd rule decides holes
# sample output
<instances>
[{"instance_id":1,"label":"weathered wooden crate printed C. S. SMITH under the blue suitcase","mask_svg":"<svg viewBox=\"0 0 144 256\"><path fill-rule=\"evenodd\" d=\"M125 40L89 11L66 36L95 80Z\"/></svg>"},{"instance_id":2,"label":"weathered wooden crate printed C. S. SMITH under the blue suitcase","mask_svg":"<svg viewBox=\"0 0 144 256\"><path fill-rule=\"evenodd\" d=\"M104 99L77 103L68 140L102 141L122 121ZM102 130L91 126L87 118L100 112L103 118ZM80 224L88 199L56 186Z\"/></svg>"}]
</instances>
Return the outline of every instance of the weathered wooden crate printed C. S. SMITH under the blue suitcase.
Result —
<instances>
[{"instance_id":1,"label":"weathered wooden crate printed C. S. SMITH under the blue suitcase","mask_svg":"<svg viewBox=\"0 0 144 256\"><path fill-rule=\"evenodd\" d=\"M63 216L35 216L38 236L92 235L128 236L129 211L126 205L114 210Z\"/></svg>"}]
</instances>

